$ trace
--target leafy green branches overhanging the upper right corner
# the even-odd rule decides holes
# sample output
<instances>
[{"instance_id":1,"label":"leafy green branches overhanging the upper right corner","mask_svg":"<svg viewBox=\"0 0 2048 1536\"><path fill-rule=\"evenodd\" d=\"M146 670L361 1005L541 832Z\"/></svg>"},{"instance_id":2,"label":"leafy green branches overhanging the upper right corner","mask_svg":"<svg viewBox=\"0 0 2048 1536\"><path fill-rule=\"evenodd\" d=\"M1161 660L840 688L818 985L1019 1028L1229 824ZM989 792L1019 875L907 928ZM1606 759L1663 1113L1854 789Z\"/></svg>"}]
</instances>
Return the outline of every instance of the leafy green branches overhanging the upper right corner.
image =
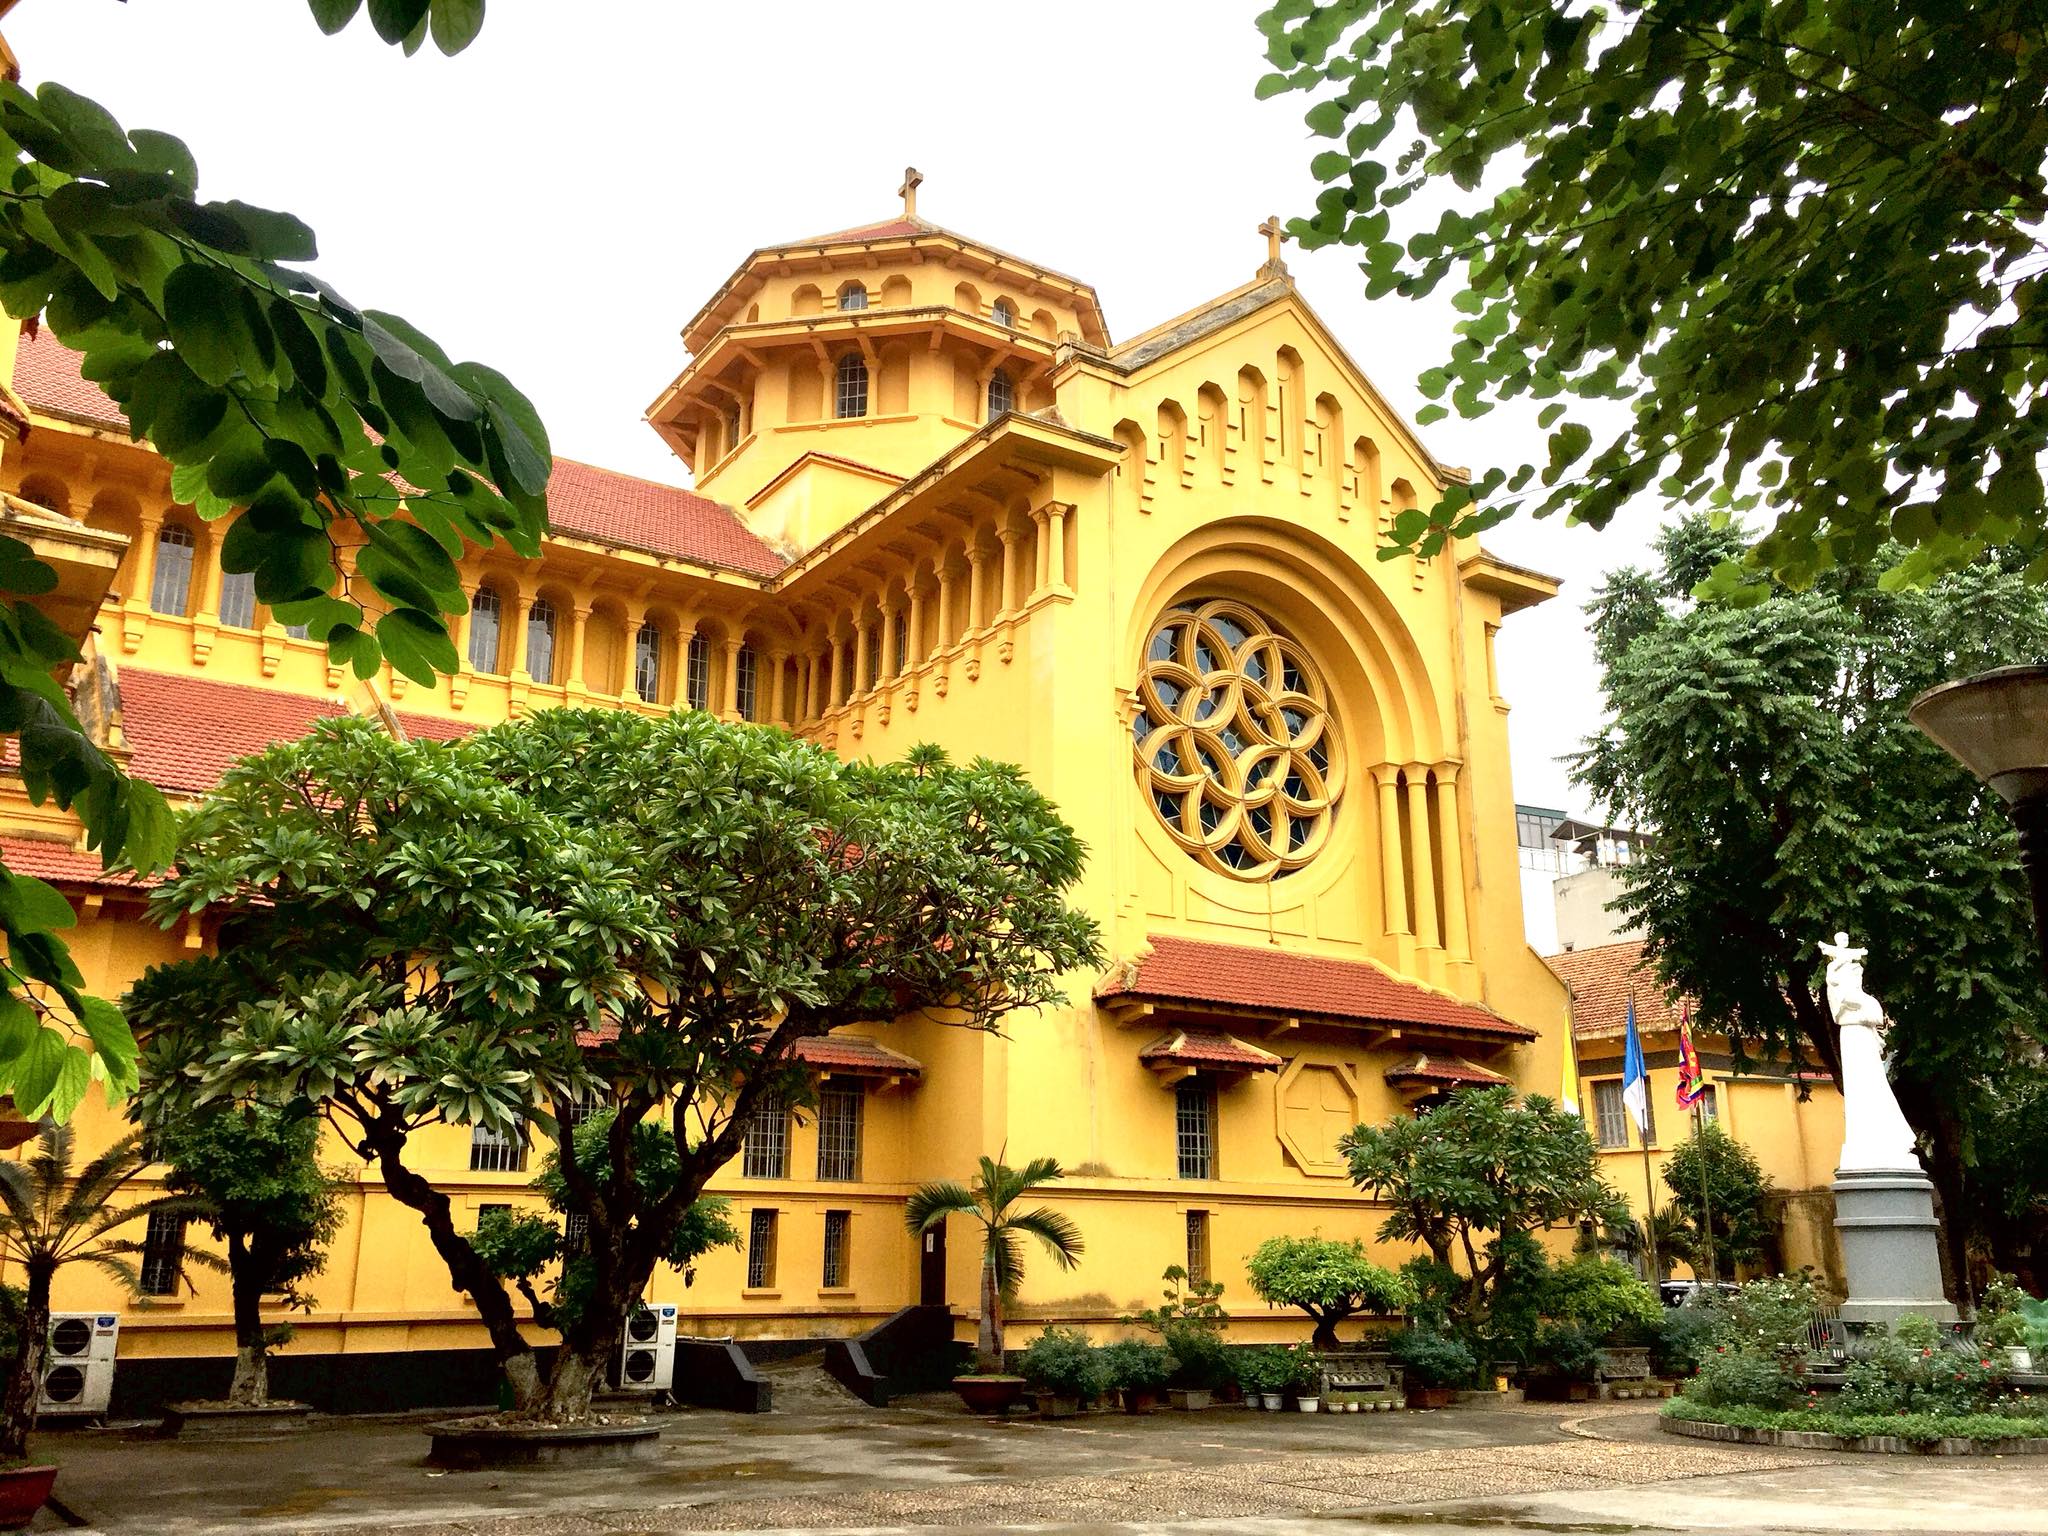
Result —
<instances>
[{"instance_id":1,"label":"leafy green branches overhanging the upper right corner","mask_svg":"<svg viewBox=\"0 0 2048 1536\"><path fill-rule=\"evenodd\" d=\"M1335 141L1296 238L1356 246L1368 295L1454 285L1427 395L1548 401L1548 463L1452 485L1401 541L1606 526L1655 487L1761 506L1745 565L1796 586L1987 545L2048 575L2036 6L1278 0L1260 27L1260 94L1315 94ZM1595 446L1571 401L1630 420Z\"/></svg>"}]
</instances>

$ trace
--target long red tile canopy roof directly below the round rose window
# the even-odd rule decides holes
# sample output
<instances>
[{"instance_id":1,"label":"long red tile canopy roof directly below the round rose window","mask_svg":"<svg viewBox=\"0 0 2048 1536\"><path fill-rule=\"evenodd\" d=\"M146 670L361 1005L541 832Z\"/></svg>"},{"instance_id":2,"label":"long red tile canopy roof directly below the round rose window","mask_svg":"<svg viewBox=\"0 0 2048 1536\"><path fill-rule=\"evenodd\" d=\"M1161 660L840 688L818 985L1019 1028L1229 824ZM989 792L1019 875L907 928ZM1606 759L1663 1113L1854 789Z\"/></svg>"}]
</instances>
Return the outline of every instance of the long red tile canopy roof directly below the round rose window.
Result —
<instances>
[{"instance_id":1,"label":"long red tile canopy roof directly below the round rose window","mask_svg":"<svg viewBox=\"0 0 2048 1536\"><path fill-rule=\"evenodd\" d=\"M1382 971L1370 961L1333 961L1251 944L1210 944L1194 938L1153 938L1151 954L1118 967L1098 997L1165 1004L1221 1004L1262 1014L1399 1024L1493 1040L1534 1040L1536 1030L1511 1024L1491 1008L1432 991Z\"/></svg>"}]
</instances>

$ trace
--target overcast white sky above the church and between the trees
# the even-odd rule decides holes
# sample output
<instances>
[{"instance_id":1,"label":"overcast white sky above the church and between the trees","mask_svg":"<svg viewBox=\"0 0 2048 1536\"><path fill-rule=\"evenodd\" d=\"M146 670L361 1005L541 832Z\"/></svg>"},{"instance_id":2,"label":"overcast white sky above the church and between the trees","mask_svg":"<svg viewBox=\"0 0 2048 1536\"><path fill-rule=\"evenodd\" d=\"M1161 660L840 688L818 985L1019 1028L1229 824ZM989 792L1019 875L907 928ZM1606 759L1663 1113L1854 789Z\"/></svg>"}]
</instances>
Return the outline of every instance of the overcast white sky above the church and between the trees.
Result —
<instances>
[{"instance_id":1,"label":"overcast white sky above the church and between the trees","mask_svg":"<svg viewBox=\"0 0 2048 1536\"><path fill-rule=\"evenodd\" d=\"M555 451L688 483L641 420L682 322L756 246L920 213L1094 283L1112 338L1247 281L1255 225L1315 199L1305 98L1253 100L1255 4L496 0L481 39L408 59L303 0L25 0L27 82L180 135L205 197L297 213L319 272L508 373ZM1288 250L1309 303L1407 416L1448 301L1364 301L1341 250ZM1542 459L1493 416L1423 432L1446 463ZM1565 578L1501 633L1516 797L1581 809L1559 754L1597 723L1579 612L1638 561L1606 532L1511 520L1487 545Z\"/></svg>"}]
</instances>

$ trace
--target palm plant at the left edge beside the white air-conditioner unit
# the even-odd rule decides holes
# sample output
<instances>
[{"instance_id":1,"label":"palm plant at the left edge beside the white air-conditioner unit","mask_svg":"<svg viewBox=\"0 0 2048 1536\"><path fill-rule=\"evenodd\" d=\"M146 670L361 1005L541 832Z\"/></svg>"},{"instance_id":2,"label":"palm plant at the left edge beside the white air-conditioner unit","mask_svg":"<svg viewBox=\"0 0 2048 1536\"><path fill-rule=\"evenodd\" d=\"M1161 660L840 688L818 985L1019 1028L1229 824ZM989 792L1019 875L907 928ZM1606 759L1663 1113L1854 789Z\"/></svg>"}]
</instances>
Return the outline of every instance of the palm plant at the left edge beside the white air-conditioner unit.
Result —
<instances>
[{"instance_id":1,"label":"palm plant at the left edge beside the white air-conditioner unit","mask_svg":"<svg viewBox=\"0 0 2048 1536\"><path fill-rule=\"evenodd\" d=\"M156 1196L115 1206L115 1196L147 1165L141 1137L125 1137L74 1178L72 1128L61 1124L43 1126L33 1157L0 1163L0 1260L23 1270L20 1313L12 1319L14 1358L8 1364L6 1393L0 1395L0 1462L16 1462L29 1454L35 1389L43 1376L43 1350L49 1343L49 1292L57 1270L68 1264L92 1264L131 1292L139 1292L135 1257L143 1245L113 1233L160 1210L180 1217L205 1210L203 1202L190 1196ZM178 1278L184 1278L184 1264L217 1268L219 1260L186 1251Z\"/></svg>"}]
</instances>

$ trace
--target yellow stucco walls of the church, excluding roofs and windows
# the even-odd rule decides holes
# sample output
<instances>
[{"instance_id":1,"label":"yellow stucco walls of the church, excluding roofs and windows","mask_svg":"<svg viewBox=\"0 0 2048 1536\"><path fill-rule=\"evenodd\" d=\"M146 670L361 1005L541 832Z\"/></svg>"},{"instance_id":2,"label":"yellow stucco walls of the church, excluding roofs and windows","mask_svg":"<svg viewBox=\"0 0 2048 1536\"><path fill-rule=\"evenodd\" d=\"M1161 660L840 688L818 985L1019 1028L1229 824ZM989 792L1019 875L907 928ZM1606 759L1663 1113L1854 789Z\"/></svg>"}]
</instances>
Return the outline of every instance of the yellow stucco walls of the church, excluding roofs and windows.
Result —
<instances>
[{"instance_id":1,"label":"yellow stucco walls of the church, excluding roofs and windows","mask_svg":"<svg viewBox=\"0 0 2048 1536\"><path fill-rule=\"evenodd\" d=\"M1528 1044L1462 1051L1518 1083L1554 1087L1565 989L1522 938L1507 702L1493 676L1503 618L1548 588L1473 547L1434 561L1376 559L1395 512L1434 500L1454 471L1386 410L1292 285L1264 272L1264 283L1108 350L1092 293L950 236L918 250L897 240L756 260L758 279L729 285L729 313L692 332L698 358L653 418L705 494L739 508L795 563L758 580L569 537L530 563L473 557L465 582L489 584L506 608L498 668L432 688L385 672L383 694L401 711L479 725L563 702L664 709L678 694L682 645L698 631L713 641L711 709L735 715L735 657L752 647L762 664L756 717L842 756L887 760L936 741L1022 764L1092 848L1077 897L1118 961L1178 934L1376 965L1536 1030ZM872 307L842 315L831 295L854 279ZM997 297L1014 301L1014 326L991 317ZM872 356L870 408L829 420L811 387L827 383L823 369L846 348ZM807 385L803 367L813 371ZM1044 414L983 422L991 367L1016 371L1020 412ZM721 438L731 401L737 442ZM168 473L145 449L39 418L0 463L0 487L135 539L100 625L117 668L346 692L319 647L276 625L219 623L221 528L172 504ZM199 545L190 616L150 608L147 561L166 522L184 522ZM1286 881L1196 862L1139 788L1139 666L1159 614L1190 596L1253 606L1329 684L1346 782L1327 846ZM537 598L563 625L559 682L535 682L524 666L520 618ZM629 690L629 657L649 616L664 633L664 682L643 702ZM872 649L870 635L881 637ZM61 817L29 809L18 793L0 817L14 831L63 831ZM121 897L80 905L80 963L104 993L193 942L143 928ZM743 1257L715 1253L694 1288L670 1276L651 1298L682 1303L686 1331L864 1327L918 1298L918 1249L901 1229L918 1182L965 1178L981 1153L1055 1155L1073 1176L1049 1198L1081 1225L1087 1257L1061 1274L1034 1255L1020 1317L1108 1323L1149 1305L1159 1272L1186 1257L1188 1212L1204 1210L1212 1272L1247 1335L1303 1335L1305 1319L1249 1298L1243 1257L1274 1233L1374 1241L1380 1212L1343 1178L1333 1145L1350 1124L1413 1102L1382 1073L1425 1032L1198 1010L1133 1028L1096 1006L1098 981L1071 977L1065 1008L1014 1018L1001 1036L930 1022L881 1028L924 1075L868 1096L858 1182L807 1178L815 1130L799 1124L791 1178L748 1180L729 1167L715 1184L741 1227L756 1206L780 1212L774 1284L750 1290ZM1286 1012L1284 997L1272 1004ZM1217 1085L1210 1180L1178 1178L1174 1094L1137 1055L1176 1020L1235 1032L1286 1061ZM96 1102L78 1124L88 1147L119 1130ZM420 1149L422 1167L465 1210L535 1198L522 1174L469 1174L463 1128L424 1135ZM319 1309L299 1321L291 1348L481 1343L412 1212L346 1149L330 1157L358 1188L315 1286ZM1626 1169L1616 1174L1626 1188ZM831 1292L819 1284L825 1210L852 1212L850 1284ZM946 1294L963 1313L975 1298L971 1239L958 1227L948 1251ZM66 1274L59 1307L123 1303L109 1282ZM190 1296L125 1311L125 1354L227 1348L217 1276L201 1274Z\"/></svg>"}]
</instances>

